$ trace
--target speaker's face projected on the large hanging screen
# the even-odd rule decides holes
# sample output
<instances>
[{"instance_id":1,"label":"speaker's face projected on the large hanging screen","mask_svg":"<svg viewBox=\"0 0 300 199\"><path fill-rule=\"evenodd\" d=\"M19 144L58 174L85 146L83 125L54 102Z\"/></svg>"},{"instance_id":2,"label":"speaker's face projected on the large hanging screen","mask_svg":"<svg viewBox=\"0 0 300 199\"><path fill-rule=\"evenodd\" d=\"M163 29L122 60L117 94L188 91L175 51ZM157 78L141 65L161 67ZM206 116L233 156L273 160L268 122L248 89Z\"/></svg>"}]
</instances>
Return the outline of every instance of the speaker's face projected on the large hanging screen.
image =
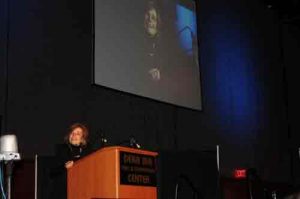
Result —
<instances>
[{"instance_id":1,"label":"speaker's face projected on the large hanging screen","mask_svg":"<svg viewBox=\"0 0 300 199\"><path fill-rule=\"evenodd\" d=\"M150 1L144 20L146 32L150 37L157 36L159 32L159 21L159 14L157 9L154 7L154 2Z\"/></svg>"}]
</instances>

